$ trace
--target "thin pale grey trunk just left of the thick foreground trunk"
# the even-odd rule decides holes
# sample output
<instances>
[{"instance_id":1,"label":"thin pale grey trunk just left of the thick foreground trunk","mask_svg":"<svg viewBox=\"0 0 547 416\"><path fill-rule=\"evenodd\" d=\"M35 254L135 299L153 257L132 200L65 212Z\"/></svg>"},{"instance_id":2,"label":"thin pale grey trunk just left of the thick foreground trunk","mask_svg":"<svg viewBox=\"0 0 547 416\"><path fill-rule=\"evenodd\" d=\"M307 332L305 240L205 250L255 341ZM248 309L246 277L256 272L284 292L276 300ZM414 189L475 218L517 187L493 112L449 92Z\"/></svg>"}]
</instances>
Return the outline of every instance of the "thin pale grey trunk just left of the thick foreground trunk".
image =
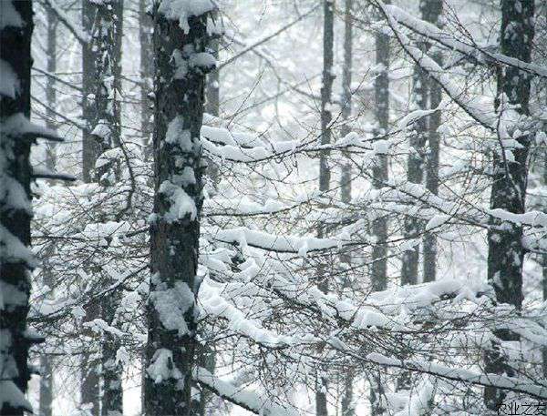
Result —
<instances>
[{"instance_id":1,"label":"thin pale grey trunk just left of the thick foreground trunk","mask_svg":"<svg viewBox=\"0 0 547 416\"><path fill-rule=\"evenodd\" d=\"M139 41L140 41L140 124L145 157L152 155L152 76L154 59L152 53L152 18L147 13L146 0L139 0Z\"/></svg>"}]
</instances>

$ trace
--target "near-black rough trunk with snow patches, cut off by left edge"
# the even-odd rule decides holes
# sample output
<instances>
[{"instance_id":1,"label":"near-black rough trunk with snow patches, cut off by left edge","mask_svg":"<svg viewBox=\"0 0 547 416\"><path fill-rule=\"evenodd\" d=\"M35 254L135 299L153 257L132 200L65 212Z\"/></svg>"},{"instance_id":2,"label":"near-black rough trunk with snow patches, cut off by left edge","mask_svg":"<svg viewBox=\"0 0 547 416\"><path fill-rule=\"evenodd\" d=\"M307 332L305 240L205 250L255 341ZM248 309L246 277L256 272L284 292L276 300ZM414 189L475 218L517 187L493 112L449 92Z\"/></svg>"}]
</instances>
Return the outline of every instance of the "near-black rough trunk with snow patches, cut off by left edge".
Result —
<instances>
[{"instance_id":1,"label":"near-black rough trunk with snow patches, cut off by left edge","mask_svg":"<svg viewBox=\"0 0 547 416\"><path fill-rule=\"evenodd\" d=\"M26 332L29 269L33 263L32 254L26 249L30 245L32 217L29 164L32 141L23 137L13 122L18 117L28 122L30 117L32 2L2 2L0 13L20 17L19 21L13 19L0 29L2 76L6 76L5 84L9 82L9 75L14 81L13 90L0 95L0 246L15 249L13 255L0 257L3 299L0 304L0 390L14 391L10 402L0 402L0 414L18 416L28 409L23 394L30 380L27 359L32 341Z\"/></svg>"}]
</instances>

